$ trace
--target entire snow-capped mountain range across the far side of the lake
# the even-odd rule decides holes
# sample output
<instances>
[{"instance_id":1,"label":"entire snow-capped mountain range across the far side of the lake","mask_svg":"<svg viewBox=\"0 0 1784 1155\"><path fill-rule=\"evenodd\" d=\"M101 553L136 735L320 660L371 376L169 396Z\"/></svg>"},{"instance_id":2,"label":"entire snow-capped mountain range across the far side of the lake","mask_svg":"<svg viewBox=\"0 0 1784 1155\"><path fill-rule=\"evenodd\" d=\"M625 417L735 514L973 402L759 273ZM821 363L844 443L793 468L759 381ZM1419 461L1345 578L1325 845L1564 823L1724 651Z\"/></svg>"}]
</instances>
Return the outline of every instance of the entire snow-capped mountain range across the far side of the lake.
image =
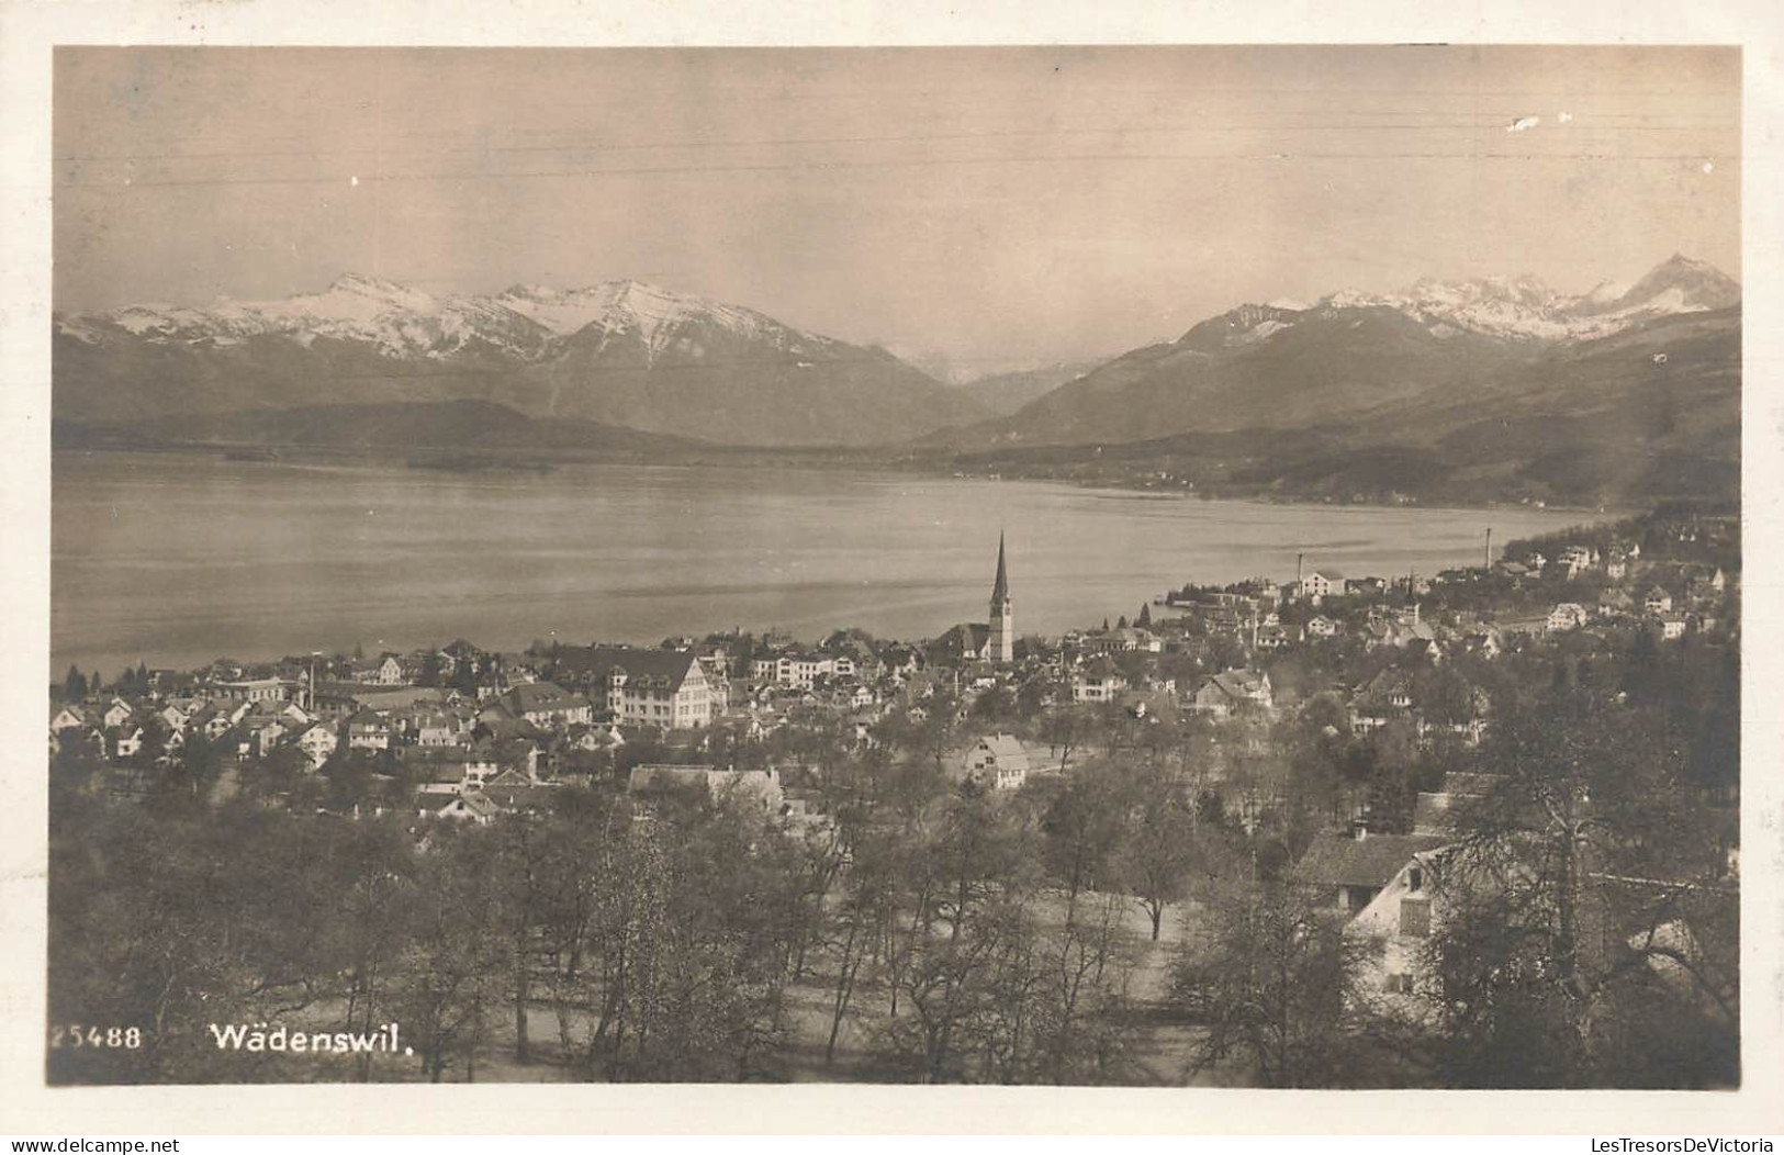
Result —
<instances>
[{"instance_id":1,"label":"entire snow-capped mountain range across the far side of the lake","mask_svg":"<svg viewBox=\"0 0 1784 1155\"><path fill-rule=\"evenodd\" d=\"M61 428L102 439L855 446L1208 491L1604 502L1738 487L1739 303L1738 282L1682 255L1582 295L1420 280L1247 303L1103 362L946 386L881 348L632 280L437 298L350 275L277 302L57 316L54 402ZM368 405L380 418L353 421ZM401 405L432 409L400 430Z\"/></svg>"}]
</instances>

